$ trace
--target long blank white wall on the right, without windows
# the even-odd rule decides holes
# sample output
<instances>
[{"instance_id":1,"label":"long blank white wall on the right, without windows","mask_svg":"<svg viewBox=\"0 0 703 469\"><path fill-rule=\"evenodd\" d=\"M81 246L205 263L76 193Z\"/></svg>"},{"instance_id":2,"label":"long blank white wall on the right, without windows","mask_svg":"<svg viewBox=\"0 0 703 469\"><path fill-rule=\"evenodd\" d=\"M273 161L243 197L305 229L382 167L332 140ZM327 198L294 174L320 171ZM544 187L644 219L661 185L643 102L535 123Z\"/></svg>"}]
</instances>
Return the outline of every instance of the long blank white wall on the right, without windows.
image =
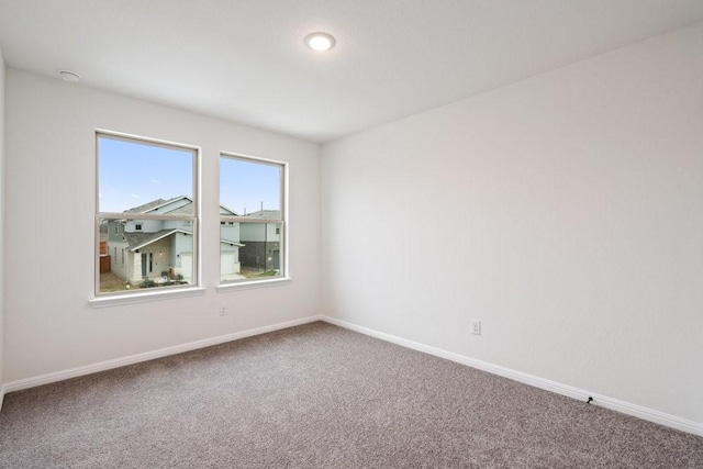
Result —
<instances>
[{"instance_id":1,"label":"long blank white wall on the right, without windows","mask_svg":"<svg viewBox=\"0 0 703 469\"><path fill-rule=\"evenodd\" d=\"M325 313L703 423L702 52L698 24L324 145Z\"/></svg>"}]
</instances>

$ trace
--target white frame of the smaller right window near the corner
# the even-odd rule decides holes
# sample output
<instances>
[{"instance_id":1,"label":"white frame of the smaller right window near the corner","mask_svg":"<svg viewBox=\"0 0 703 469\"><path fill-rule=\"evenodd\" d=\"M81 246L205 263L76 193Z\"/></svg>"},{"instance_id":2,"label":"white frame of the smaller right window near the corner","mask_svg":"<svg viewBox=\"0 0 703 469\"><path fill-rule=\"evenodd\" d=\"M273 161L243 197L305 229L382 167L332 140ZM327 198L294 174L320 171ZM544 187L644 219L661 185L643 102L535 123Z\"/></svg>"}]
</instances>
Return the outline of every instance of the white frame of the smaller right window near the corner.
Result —
<instances>
[{"instance_id":1,"label":"white frame of the smaller right window near the corner","mask_svg":"<svg viewBox=\"0 0 703 469\"><path fill-rule=\"evenodd\" d=\"M289 258L289 245L290 245L290 236L289 236L289 198L288 198L288 171L289 164L288 161L280 161L277 159L270 158L261 158L259 156L244 155L241 153L232 153L232 152L220 152L220 160L222 163L223 158L231 159L239 159L248 163L258 163L270 166L278 166L281 168L280 171L280 219L275 220L266 220L266 219L257 219L257 217L247 217L247 216L231 216L231 215L220 215L220 226L224 223L265 223L265 224L280 224L280 263L281 268L279 275L270 278L253 278L253 279L238 279L238 280L226 280L222 281L222 278L219 276L219 286L216 288L217 292L227 292L239 289L248 289L248 288L258 288L258 287L268 287L275 284L288 283L292 280L290 275L290 258ZM221 179L217 178L217 185L221 183ZM217 186L220 188L220 186ZM222 201L220 197L217 197L217 203L221 204ZM222 250L217 249L220 253L220 263L222 261Z\"/></svg>"}]
</instances>

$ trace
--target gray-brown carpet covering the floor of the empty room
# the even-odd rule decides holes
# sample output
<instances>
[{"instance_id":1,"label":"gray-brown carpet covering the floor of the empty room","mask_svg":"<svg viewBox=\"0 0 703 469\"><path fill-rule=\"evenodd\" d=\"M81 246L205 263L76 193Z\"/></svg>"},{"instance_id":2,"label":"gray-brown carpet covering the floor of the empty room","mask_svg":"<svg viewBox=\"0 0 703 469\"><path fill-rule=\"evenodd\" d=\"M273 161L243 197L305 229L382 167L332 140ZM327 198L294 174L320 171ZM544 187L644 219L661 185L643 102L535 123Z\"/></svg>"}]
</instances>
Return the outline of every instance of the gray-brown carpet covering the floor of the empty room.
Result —
<instances>
[{"instance_id":1,"label":"gray-brown carpet covering the floor of the empty room","mask_svg":"<svg viewBox=\"0 0 703 469\"><path fill-rule=\"evenodd\" d=\"M703 438L325 323L5 397L2 468L701 468Z\"/></svg>"}]
</instances>

